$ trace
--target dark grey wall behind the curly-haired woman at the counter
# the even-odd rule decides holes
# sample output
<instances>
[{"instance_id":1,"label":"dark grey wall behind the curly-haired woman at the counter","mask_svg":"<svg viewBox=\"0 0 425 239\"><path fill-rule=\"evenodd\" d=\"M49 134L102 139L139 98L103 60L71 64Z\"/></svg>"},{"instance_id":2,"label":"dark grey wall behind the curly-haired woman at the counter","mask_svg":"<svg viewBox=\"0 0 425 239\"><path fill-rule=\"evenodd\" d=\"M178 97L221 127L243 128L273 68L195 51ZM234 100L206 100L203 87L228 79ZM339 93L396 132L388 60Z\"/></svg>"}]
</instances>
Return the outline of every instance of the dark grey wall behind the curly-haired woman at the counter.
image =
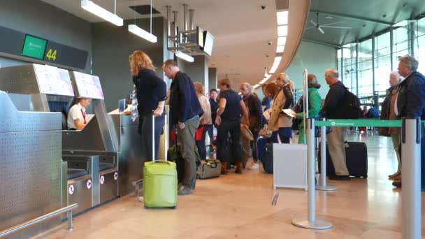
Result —
<instances>
[{"instance_id":1,"label":"dark grey wall behind the curly-haired woman at the counter","mask_svg":"<svg viewBox=\"0 0 425 239\"><path fill-rule=\"evenodd\" d=\"M124 27L115 27L108 22L92 24L93 31L93 75L99 75L105 103L108 111L118 107L118 100L124 99L133 90L133 81L129 70L129 55L135 50L142 50L152 59L157 67L157 75L163 78L164 62L164 17L154 17L152 34L157 36L157 43L140 38L128 31L128 24L134 20L124 21ZM136 20L138 27L149 31L149 19Z\"/></svg>"}]
</instances>

